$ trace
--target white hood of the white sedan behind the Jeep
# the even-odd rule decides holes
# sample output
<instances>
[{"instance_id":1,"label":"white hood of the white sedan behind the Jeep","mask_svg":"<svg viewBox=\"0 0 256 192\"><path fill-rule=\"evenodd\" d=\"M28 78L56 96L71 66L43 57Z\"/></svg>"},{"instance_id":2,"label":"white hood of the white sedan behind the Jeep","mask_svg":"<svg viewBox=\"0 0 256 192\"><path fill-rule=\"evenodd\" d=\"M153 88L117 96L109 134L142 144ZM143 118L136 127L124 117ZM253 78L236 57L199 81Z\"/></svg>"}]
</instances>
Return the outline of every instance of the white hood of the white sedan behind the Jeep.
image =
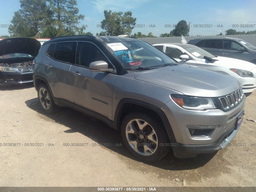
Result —
<instances>
[{"instance_id":1,"label":"white hood of the white sedan behind the Jeep","mask_svg":"<svg viewBox=\"0 0 256 192\"><path fill-rule=\"evenodd\" d=\"M221 57L221 56L215 57L213 59L216 59L218 61L214 61L212 64L217 64L223 67L242 69L247 71L250 71L256 68L255 64L244 61L244 60L240 60L240 59ZM206 63L211 63L209 60L205 60L205 59L202 59L202 61Z\"/></svg>"}]
</instances>

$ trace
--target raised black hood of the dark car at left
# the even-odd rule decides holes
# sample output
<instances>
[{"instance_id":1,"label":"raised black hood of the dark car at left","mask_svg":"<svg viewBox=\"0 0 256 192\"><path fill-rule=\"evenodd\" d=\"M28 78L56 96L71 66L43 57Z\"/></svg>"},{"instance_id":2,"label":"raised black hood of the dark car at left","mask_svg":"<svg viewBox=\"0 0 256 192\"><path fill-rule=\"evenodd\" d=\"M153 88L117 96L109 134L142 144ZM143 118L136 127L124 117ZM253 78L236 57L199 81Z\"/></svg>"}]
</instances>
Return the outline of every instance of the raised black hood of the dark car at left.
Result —
<instances>
[{"instance_id":1,"label":"raised black hood of the dark car at left","mask_svg":"<svg viewBox=\"0 0 256 192\"><path fill-rule=\"evenodd\" d=\"M12 53L25 53L35 57L40 47L40 42L34 38L6 38L0 40L0 56Z\"/></svg>"}]
</instances>

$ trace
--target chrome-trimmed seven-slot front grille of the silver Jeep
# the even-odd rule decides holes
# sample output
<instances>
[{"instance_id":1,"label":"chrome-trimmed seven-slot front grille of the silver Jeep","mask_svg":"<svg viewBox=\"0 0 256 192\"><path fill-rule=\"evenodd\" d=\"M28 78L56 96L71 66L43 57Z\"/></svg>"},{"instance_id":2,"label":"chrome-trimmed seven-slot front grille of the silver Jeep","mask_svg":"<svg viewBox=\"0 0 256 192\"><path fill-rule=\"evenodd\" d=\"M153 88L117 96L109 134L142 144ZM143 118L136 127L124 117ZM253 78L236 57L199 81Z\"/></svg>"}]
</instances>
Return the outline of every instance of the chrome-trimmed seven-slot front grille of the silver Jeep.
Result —
<instances>
[{"instance_id":1,"label":"chrome-trimmed seven-slot front grille of the silver Jeep","mask_svg":"<svg viewBox=\"0 0 256 192\"><path fill-rule=\"evenodd\" d=\"M244 99L244 93L240 87L235 92L219 97L218 99L220 100L221 106L224 110L230 110L242 102Z\"/></svg>"}]
</instances>

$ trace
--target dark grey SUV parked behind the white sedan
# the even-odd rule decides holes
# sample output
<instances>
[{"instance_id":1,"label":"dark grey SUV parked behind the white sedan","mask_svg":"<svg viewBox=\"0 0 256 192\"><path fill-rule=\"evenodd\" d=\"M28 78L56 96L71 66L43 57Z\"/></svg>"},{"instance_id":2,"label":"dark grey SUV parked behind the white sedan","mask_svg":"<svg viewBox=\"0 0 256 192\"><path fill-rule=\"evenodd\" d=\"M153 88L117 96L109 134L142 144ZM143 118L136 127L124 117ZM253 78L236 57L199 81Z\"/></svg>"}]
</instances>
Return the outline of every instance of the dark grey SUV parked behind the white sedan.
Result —
<instances>
[{"instance_id":1,"label":"dark grey SUV parked behind the white sedan","mask_svg":"<svg viewBox=\"0 0 256 192\"><path fill-rule=\"evenodd\" d=\"M256 47L238 38L195 38L188 44L196 45L216 56L245 60L256 64Z\"/></svg>"}]
</instances>

